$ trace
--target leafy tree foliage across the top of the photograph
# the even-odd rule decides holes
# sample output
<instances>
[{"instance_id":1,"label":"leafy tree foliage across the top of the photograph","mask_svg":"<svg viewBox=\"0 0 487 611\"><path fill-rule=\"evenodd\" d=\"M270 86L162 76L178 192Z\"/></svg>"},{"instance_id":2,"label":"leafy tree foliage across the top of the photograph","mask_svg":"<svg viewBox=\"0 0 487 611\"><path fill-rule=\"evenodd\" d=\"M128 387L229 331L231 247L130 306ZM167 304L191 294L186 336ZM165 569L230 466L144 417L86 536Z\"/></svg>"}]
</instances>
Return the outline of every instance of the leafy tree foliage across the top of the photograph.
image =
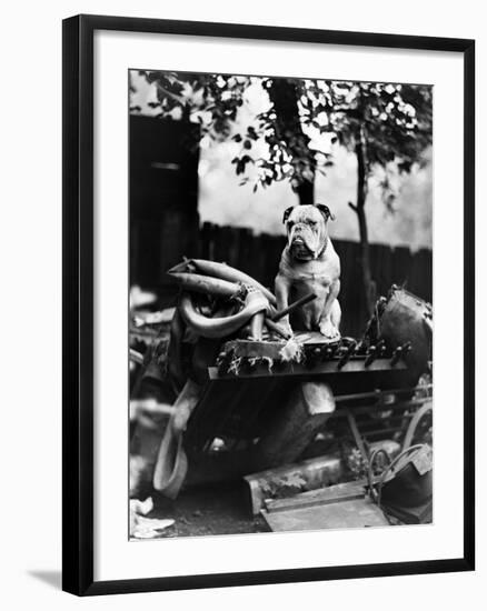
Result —
<instances>
[{"instance_id":1,"label":"leafy tree foliage across the top of the photograph","mask_svg":"<svg viewBox=\"0 0 487 611\"><path fill-rule=\"evenodd\" d=\"M296 189L332 166L324 134L354 151L365 146L366 176L385 170L382 191L392 196L387 169L409 172L431 143L431 89L425 86L331 80L271 79L227 74L140 71L155 83L159 117L197 121L201 138L231 139L240 151L231 163L241 184L289 181ZM250 124L237 121L245 94L259 84L267 108ZM138 109L133 109L138 110ZM321 143L320 146L320 138ZM329 142L328 140L328 142ZM315 146L311 146L315 142ZM317 143L317 144L316 144Z\"/></svg>"}]
</instances>

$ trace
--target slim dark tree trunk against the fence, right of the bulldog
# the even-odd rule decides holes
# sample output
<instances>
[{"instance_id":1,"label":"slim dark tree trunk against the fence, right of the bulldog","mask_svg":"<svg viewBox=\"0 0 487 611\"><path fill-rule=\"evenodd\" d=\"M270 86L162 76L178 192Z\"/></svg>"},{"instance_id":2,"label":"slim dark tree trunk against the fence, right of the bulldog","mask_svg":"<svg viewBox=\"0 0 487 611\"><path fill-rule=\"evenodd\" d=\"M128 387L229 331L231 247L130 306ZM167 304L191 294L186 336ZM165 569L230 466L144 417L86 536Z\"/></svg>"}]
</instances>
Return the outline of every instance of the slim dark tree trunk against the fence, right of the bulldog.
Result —
<instances>
[{"instance_id":1,"label":"slim dark tree trunk against the fence, right of the bulldog","mask_svg":"<svg viewBox=\"0 0 487 611\"><path fill-rule=\"evenodd\" d=\"M372 279L370 267L370 247L367 231L367 218L365 203L367 198L367 166L366 166L366 142L364 132L360 130L359 138L355 146L357 156L357 203L350 203L350 208L357 213L358 229L360 237L360 267L362 274L364 300L367 315L374 313L376 303L376 283Z\"/></svg>"}]
</instances>

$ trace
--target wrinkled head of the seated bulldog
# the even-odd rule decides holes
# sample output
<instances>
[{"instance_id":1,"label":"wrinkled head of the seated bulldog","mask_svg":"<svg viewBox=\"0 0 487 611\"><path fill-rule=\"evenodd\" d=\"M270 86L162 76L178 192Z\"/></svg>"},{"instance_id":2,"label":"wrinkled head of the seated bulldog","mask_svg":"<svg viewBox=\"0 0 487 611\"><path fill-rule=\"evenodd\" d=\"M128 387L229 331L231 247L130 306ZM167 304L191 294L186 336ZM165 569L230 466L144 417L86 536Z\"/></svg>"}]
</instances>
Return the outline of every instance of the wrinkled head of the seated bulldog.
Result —
<instances>
[{"instance_id":1,"label":"wrinkled head of the seated bulldog","mask_svg":"<svg viewBox=\"0 0 487 611\"><path fill-rule=\"evenodd\" d=\"M334 220L328 206L295 206L284 213L288 247L294 259L317 259L328 239L327 222Z\"/></svg>"}]
</instances>

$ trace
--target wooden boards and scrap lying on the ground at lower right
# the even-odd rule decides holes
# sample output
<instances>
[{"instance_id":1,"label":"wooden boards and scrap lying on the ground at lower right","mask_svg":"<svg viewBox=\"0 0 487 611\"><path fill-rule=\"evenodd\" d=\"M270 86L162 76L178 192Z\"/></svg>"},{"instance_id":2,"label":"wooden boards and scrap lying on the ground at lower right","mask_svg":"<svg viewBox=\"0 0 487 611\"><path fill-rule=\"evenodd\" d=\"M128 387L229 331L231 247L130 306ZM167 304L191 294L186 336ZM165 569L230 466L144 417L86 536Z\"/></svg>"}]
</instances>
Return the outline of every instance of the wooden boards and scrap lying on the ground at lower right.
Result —
<instances>
[{"instance_id":1,"label":"wooden boards and scrap lying on the ground at lower right","mask_svg":"<svg viewBox=\"0 0 487 611\"><path fill-rule=\"evenodd\" d=\"M408 445L418 423L411 419L402 449L394 441L370 447L364 478L335 483L344 467L330 455L246 477L251 512L284 532L431 522L433 450Z\"/></svg>"}]
</instances>

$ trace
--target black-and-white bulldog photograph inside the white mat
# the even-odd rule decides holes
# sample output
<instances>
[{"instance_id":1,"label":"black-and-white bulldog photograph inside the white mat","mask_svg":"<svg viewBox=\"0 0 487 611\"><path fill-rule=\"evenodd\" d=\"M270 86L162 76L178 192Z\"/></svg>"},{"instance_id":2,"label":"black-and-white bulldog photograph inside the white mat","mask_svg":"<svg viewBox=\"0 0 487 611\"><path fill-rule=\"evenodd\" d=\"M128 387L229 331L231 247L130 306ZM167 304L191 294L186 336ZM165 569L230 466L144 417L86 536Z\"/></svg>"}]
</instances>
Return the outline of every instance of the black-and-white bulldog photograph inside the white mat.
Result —
<instances>
[{"instance_id":1,"label":"black-and-white bulldog photograph inside the white mat","mask_svg":"<svg viewBox=\"0 0 487 611\"><path fill-rule=\"evenodd\" d=\"M131 541L434 523L435 88L336 77L128 71Z\"/></svg>"}]
</instances>

